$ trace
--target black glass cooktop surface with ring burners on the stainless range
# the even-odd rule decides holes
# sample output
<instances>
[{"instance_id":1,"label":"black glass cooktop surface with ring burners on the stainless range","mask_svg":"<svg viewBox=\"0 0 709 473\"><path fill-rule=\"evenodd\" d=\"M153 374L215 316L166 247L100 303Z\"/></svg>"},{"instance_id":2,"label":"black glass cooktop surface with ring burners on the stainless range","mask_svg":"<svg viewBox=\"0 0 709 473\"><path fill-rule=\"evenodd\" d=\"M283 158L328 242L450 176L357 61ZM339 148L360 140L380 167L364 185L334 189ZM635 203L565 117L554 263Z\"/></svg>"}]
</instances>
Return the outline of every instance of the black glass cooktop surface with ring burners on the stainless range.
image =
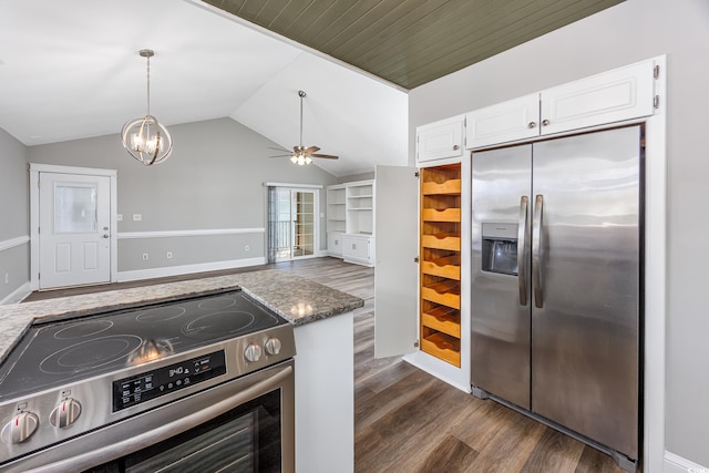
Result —
<instances>
[{"instance_id":1,"label":"black glass cooktop surface with ring burners on the stainless range","mask_svg":"<svg viewBox=\"0 0 709 473\"><path fill-rule=\"evenodd\" d=\"M0 367L0 400L281 323L242 290L35 323Z\"/></svg>"}]
</instances>

